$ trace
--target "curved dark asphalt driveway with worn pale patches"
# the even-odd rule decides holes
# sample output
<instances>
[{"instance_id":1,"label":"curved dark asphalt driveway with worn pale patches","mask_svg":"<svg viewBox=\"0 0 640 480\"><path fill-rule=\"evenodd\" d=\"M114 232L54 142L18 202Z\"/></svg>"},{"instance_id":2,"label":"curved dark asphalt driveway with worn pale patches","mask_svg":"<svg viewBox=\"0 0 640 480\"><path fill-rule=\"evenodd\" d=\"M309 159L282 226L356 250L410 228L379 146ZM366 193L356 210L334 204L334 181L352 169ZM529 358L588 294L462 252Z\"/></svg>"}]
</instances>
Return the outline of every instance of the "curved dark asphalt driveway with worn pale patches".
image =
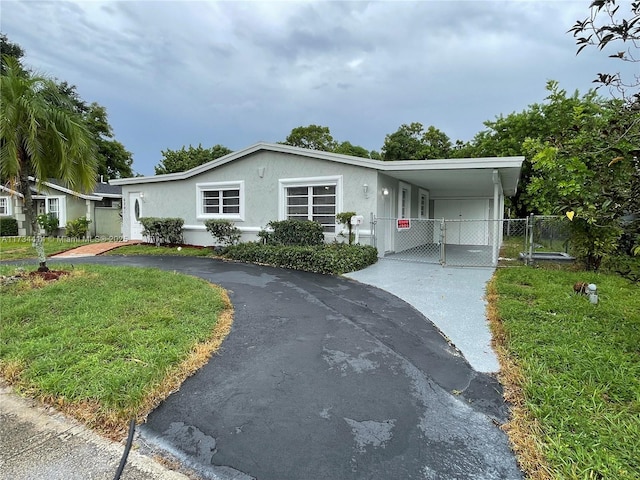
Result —
<instances>
[{"instance_id":1,"label":"curved dark asphalt driveway with worn pale patches","mask_svg":"<svg viewBox=\"0 0 640 480\"><path fill-rule=\"evenodd\" d=\"M235 320L221 352L140 428L143 444L204 478L522 478L496 425L507 415L499 384L385 291L212 259L73 260L85 262L229 290Z\"/></svg>"}]
</instances>

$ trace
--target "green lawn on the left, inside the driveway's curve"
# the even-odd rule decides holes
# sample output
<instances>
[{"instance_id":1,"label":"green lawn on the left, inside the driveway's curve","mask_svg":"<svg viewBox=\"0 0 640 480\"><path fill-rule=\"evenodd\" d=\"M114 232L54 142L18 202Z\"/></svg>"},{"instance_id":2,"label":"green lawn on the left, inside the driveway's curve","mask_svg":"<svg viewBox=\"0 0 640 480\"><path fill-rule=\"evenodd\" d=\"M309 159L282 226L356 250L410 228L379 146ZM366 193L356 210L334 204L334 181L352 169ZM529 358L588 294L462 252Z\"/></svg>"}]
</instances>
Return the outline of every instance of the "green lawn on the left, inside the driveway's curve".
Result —
<instances>
[{"instance_id":1,"label":"green lawn on the left, inside the driveway's curve","mask_svg":"<svg viewBox=\"0 0 640 480\"><path fill-rule=\"evenodd\" d=\"M126 425L151 408L150 396L211 339L230 308L222 290L195 277L132 267L55 269L71 274L0 287L0 374L76 416L94 408L96 423ZM0 266L0 274L14 271Z\"/></svg>"}]
</instances>

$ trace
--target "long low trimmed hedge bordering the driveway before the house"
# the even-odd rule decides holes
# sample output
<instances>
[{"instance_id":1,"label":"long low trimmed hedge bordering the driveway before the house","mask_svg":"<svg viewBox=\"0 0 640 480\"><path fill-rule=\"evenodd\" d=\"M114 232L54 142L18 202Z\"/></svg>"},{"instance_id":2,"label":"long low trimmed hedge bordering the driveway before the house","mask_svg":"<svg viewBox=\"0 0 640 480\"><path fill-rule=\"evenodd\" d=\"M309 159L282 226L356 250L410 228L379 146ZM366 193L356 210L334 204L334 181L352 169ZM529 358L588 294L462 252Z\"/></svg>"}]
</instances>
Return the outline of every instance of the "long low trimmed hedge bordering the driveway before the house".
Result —
<instances>
[{"instance_id":1,"label":"long low trimmed hedge bordering the driveway before the house","mask_svg":"<svg viewBox=\"0 0 640 480\"><path fill-rule=\"evenodd\" d=\"M229 247L224 256L241 262L264 263L294 270L341 275L376 263L378 250L369 245L345 243L282 246L248 242Z\"/></svg>"}]
</instances>

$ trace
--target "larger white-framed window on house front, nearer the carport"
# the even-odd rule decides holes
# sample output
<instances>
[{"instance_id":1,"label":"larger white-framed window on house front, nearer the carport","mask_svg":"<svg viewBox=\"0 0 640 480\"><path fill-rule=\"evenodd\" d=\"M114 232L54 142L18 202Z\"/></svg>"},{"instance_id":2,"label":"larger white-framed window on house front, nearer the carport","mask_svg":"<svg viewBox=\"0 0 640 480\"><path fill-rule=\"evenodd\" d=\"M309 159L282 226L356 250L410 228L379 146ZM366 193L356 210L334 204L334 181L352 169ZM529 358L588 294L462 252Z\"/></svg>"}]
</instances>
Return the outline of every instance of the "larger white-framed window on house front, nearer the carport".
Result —
<instances>
[{"instance_id":1,"label":"larger white-framed window on house front, nearer the carport","mask_svg":"<svg viewBox=\"0 0 640 480\"><path fill-rule=\"evenodd\" d=\"M341 177L280 180L282 219L312 220L335 233Z\"/></svg>"}]
</instances>

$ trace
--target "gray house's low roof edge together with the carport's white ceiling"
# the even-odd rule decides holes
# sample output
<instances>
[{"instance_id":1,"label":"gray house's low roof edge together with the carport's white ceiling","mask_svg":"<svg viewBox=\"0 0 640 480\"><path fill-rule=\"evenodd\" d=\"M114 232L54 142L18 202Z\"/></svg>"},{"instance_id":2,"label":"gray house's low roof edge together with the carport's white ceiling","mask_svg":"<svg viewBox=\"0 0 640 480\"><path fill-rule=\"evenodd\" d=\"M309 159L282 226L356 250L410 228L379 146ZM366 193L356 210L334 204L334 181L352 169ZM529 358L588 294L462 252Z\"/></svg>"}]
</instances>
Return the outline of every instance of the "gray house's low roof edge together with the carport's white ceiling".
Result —
<instances>
[{"instance_id":1,"label":"gray house's low roof edge together with the carport's white ceiling","mask_svg":"<svg viewBox=\"0 0 640 480\"><path fill-rule=\"evenodd\" d=\"M110 183L112 185L133 185L185 180L259 151L298 155L374 169L398 180L425 188L430 191L432 197L492 196L494 172L497 172L500 176L505 195L513 195L518 186L520 169L524 161L524 157L382 161L319 150L308 150L290 145L260 142L199 165L186 172L152 177L122 178L111 180Z\"/></svg>"}]
</instances>

